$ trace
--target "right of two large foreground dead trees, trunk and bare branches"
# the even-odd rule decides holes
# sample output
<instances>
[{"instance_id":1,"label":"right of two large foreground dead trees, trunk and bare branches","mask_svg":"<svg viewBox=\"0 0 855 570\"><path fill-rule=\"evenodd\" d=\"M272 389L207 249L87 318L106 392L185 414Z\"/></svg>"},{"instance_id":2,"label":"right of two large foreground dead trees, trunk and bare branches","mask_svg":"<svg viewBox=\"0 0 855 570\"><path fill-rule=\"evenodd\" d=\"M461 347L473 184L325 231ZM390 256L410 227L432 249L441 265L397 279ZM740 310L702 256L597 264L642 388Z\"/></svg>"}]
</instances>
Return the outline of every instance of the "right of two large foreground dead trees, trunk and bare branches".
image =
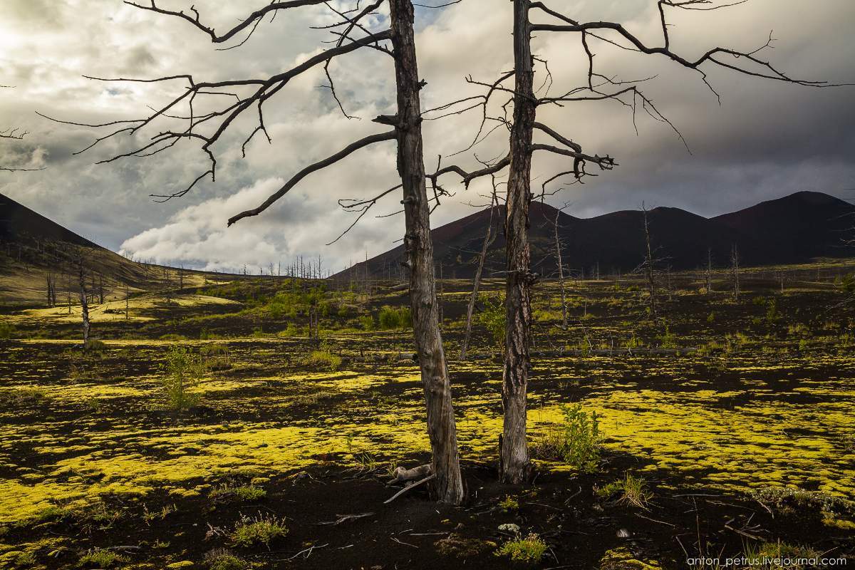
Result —
<instances>
[{"instance_id":1,"label":"right of two large foreground dead trees, trunk and bare branches","mask_svg":"<svg viewBox=\"0 0 855 570\"><path fill-rule=\"evenodd\" d=\"M727 2L727 0L725 0ZM448 103L441 108L443 113L463 113L469 109L481 109L481 128L475 134L472 148L491 132L504 127L510 132L509 152L498 159L490 167L492 172L498 172L504 167L510 168L508 176L507 210L505 219L506 239L506 284L505 308L507 327L505 332L504 372L502 387L502 404L504 408L504 426L501 439L499 465L501 477L510 483L519 483L525 479L529 471L528 448L526 444L526 393L528 372L531 368L528 347L531 328L531 287L537 275L530 270L530 252L528 249L528 205L534 198L531 191L531 167L534 152L546 152L558 156L566 156L572 160L572 167L546 179L548 182L572 176L574 182L593 173L587 172L587 165L594 165L601 170L610 170L617 163L610 156L590 155L583 152L581 144L557 132L537 120L537 110L545 105L563 106L579 101L610 101L622 103L634 114L642 109L652 118L662 121L672 128L675 134L683 140L681 133L659 112L652 100L640 90L640 84L646 79L617 80L613 75L599 73L594 66L597 55L595 48L600 45L616 47L621 50L634 51L646 56L663 56L669 61L699 73L700 79L709 86L718 97L708 81L704 68L725 68L744 75L774 79L781 82L798 85L829 86L823 81L806 81L793 79L787 73L779 71L771 63L760 58L761 50L769 47L773 39L769 39L756 50L739 51L729 48L715 47L705 51L697 59L688 59L671 49L669 24L666 18L668 9L681 10L711 10L721 9L741 2L716 4L713 0L658 0L662 29L662 44L648 45L640 38L629 32L619 22L614 21L577 21L539 0L514 0L513 10L513 49L514 68L503 72L492 82L478 81L468 78L475 85L485 88L485 93L479 97L465 97L457 102ZM545 16L544 22L532 22L532 11ZM557 95L551 95L553 85L548 62L534 56L531 38L537 34L545 38L553 33L572 33L580 39L580 50L587 57L587 85L581 85ZM544 80L535 90L535 65L543 68ZM514 79L513 87L504 85ZM652 78L648 78L652 79ZM540 94L542 92L542 94ZM496 115L490 110L491 98L497 94L505 94L504 103L494 105L498 109ZM459 107L455 105L459 104ZM508 109L513 109L508 117ZM487 124L490 128L486 129ZM549 138L550 144L534 141L534 133ZM685 141L683 140L685 143ZM464 173L459 167L444 167L437 173L457 172L463 176L464 183L471 179L471 173Z\"/></svg>"}]
</instances>

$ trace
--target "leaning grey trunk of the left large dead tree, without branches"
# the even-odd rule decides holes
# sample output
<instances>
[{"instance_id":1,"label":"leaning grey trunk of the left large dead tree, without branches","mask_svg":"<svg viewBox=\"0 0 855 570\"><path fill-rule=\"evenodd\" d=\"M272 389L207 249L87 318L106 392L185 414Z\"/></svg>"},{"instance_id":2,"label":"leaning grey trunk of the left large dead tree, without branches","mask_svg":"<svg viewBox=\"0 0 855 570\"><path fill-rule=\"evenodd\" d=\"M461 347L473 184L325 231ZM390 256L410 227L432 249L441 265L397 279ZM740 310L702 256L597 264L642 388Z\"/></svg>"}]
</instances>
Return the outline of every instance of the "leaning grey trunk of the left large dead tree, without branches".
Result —
<instances>
[{"instance_id":1,"label":"leaning grey trunk of the left large dead tree, without branches","mask_svg":"<svg viewBox=\"0 0 855 570\"><path fill-rule=\"evenodd\" d=\"M389 0L395 79L398 86L398 173L404 189L404 251L410 268L410 307L419 367L428 408L428 437L433 490L441 502L463 501L463 478L457 456L457 426L451 408L451 383L439 333L433 243L422 151L422 82L416 65L413 5ZM366 264L366 270L368 264Z\"/></svg>"}]
</instances>

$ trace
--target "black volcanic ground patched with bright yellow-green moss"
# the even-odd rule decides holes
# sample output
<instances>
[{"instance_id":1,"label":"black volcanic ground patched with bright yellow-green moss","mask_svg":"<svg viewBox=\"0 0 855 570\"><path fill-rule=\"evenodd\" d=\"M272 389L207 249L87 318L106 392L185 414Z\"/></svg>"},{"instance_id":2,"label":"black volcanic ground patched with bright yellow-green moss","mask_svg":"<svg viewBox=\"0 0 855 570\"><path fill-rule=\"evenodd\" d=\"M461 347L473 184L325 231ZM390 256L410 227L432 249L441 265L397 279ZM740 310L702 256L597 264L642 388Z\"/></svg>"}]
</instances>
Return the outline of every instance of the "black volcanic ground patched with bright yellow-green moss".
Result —
<instances>
[{"instance_id":1,"label":"black volcanic ground patched with bright yellow-green moss","mask_svg":"<svg viewBox=\"0 0 855 570\"><path fill-rule=\"evenodd\" d=\"M855 312L834 275L791 269L783 291L747 273L738 300L723 275L712 293L675 275L655 321L640 282L571 282L566 329L557 284L538 285L532 447L581 403L602 450L594 473L535 453L537 475L519 486L495 475L496 349L476 324L459 361L469 284L445 282L463 508L421 490L383 503L392 468L429 449L397 284L245 279L142 295L127 319L124 302L94 308L103 345L91 350L75 308L10 313L0 568L510 567L495 555L514 538L505 524L545 541L542 567L686 567L779 541L851 557ZM189 408L164 397L175 346L201 366ZM626 473L649 489L645 508L597 492ZM286 531L239 538L270 525Z\"/></svg>"}]
</instances>

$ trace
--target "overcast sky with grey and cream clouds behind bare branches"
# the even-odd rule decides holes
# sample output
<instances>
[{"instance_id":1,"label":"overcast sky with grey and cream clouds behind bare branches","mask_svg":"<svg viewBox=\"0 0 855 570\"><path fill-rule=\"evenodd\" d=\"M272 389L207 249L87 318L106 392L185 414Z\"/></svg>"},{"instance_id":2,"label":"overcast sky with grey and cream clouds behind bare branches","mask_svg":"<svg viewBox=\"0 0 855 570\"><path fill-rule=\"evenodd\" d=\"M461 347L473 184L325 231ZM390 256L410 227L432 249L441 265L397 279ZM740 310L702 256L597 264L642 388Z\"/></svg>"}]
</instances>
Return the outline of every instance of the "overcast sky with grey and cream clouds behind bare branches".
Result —
<instances>
[{"instance_id":1,"label":"overcast sky with grey and cream clouds behind bare branches","mask_svg":"<svg viewBox=\"0 0 855 570\"><path fill-rule=\"evenodd\" d=\"M203 22L225 30L267 0L158 2L171 9L188 9L191 3ZM339 8L350 5L333 2ZM467 85L469 74L491 81L512 67L511 6L463 0L445 9L417 10L420 74L428 82L423 108L481 92ZM653 0L556 0L551 7L578 20L620 21L646 43L661 44ZM119 0L3 0L0 84L12 88L0 89L0 130L20 126L29 134L22 142L0 141L0 166L44 169L0 173L0 192L110 249L163 263L234 269L320 254L327 267L341 268L366 252L374 256L389 249L404 232L403 216L366 216L337 244L324 244L353 219L339 209L339 198L370 197L397 184L393 142L360 150L310 175L264 214L226 227L228 217L256 206L299 168L385 128L370 121L395 111L392 60L378 51L360 50L331 67L345 109L361 120L341 114L329 91L320 87L326 83L320 68L305 73L266 103L272 144L257 136L243 158L240 144L255 117L236 121L215 147L216 182L207 179L168 203L154 203L149 195L180 190L207 169L198 144L97 165L143 139L115 138L74 155L107 131L58 124L35 113L87 123L134 119L180 95L186 85L103 83L83 75L265 78L324 49L329 34L310 26L334 18L323 6L290 9L272 22L265 20L238 49L218 51L186 22ZM540 15L537 19L545 21ZM774 49L762 53L776 67L799 79L855 81L852 0L750 0L712 12L672 9L669 21L674 24L671 49L689 59L716 45L755 49L774 30ZM387 18L381 11L369 25L380 31ZM715 215L798 190L839 197L855 193L846 190L855 187L855 87L814 89L705 68L721 94L719 105L698 73L597 40L592 47L599 73L616 79L656 76L643 84L644 90L679 128L692 154L668 126L644 113L636 117L636 134L632 112L614 102L541 108L539 120L589 154L609 154L620 163L585 185L569 186L551 203L572 202L570 213L584 217L636 209L642 201ZM585 81L587 58L578 35L541 33L534 50L549 61L551 93ZM540 85L545 74L542 67L537 72ZM438 155L466 147L479 119L475 111L426 121L428 169ZM492 159L504 155L507 144L506 132L497 131L474 152ZM452 160L468 168L478 164L471 151L444 163ZM534 187L568 166L557 157L536 156ZM485 184L464 191L453 176L445 179L456 195L434 212L432 225L475 211L469 203L483 203L479 193L486 191ZM376 214L396 211L399 200L390 195Z\"/></svg>"}]
</instances>

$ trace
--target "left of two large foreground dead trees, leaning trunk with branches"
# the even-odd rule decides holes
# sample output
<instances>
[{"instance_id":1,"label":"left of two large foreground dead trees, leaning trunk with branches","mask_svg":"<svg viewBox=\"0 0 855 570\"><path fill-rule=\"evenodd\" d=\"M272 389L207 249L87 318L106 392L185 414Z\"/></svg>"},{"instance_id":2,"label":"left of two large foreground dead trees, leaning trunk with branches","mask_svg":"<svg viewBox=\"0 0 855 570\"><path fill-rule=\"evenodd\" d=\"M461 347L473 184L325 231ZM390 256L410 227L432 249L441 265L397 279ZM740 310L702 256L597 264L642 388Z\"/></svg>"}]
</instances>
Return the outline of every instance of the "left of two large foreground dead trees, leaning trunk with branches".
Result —
<instances>
[{"instance_id":1,"label":"left of two large foreground dead trees, leaning trunk with branches","mask_svg":"<svg viewBox=\"0 0 855 570\"><path fill-rule=\"evenodd\" d=\"M126 3L138 9L159 15L168 15L186 21L190 26L203 32L215 44L225 44L230 40L239 42L230 47L239 47L251 38L253 32L267 17L273 17L288 9L301 6L325 5L336 18L333 23L324 26L333 32L333 44L313 56L306 58L292 68L273 73L266 77L249 79L227 79L221 81L198 81L190 74L178 74L158 79L126 79L123 81L169 82L180 80L186 83L180 95L169 103L159 107L143 118L114 121L99 126L112 126L109 132L97 139L94 144L119 135L136 135L150 132L149 142L134 146L127 152L112 156L103 162L112 162L120 158L151 156L171 149L174 144L185 141L198 143L206 160L196 179L188 185L173 189L154 197L168 200L181 197L191 191L203 179L215 181L217 156L215 144L230 127L245 124L245 120L254 115L257 126L245 138L241 148L245 153L247 145L258 134L271 141L264 122L265 104L282 91L288 83L314 68L324 69L329 85L327 89L338 104L342 113L351 118L339 100L330 63L341 56L357 50L375 50L392 56L397 91L397 113L380 115L374 122L387 126L387 130L370 134L347 144L343 149L313 162L294 173L279 190L271 194L256 208L233 215L228 226L239 220L262 214L271 205L292 190L292 188L310 174L351 156L374 144L395 141L398 145L398 173L401 184L395 189L403 192L404 205L404 264L410 270L410 308L413 314L414 340L419 365L422 369L422 384L428 408L428 436L431 443L433 491L443 502L459 503L463 500L463 479L460 474L457 455L457 428L451 407L451 386L445 361L442 338L439 333L439 316L436 297L436 282L433 273L433 244L430 236L430 204L428 201L426 174L422 156L422 110L419 93L425 85L418 75L416 65L416 43L414 37L414 8L410 0L374 0L369 4L355 3L354 8L339 10L327 0L289 0L268 3L252 12L245 20L229 28L226 32L215 32L214 28L203 23L198 10L191 7L191 13L165 9L156 4ZM389 17L372 19L375 10L387 3ZM372 26L388 25L385 29L373 30ZM390 45L391 44L391 45ZM97 78L91 78L97 79ZM104 80L104 79L99 79ZM224 97L228 95L229 97ZM199 110L201 109L201 110ZM198 112L195 112L198 110ZM182 115L183 114L183 115ZM238 120L239 117L244 120ZM70 122L70 121L68 121ZM166 125L163 125L166 123ZM76 123L80 124L80 123ZM156 126L157 125L157 126ZM90 125L92 126L92 125ZM94 145L93 144L93 145ZM391 191L384 192L383 195ZM434 197L439 190L434 188ZM379 199L375 198L374 202ZM368 267L366 267L367 269ZM301 273L302 275L303 273Z\"/></svg>"}]
</instances>

